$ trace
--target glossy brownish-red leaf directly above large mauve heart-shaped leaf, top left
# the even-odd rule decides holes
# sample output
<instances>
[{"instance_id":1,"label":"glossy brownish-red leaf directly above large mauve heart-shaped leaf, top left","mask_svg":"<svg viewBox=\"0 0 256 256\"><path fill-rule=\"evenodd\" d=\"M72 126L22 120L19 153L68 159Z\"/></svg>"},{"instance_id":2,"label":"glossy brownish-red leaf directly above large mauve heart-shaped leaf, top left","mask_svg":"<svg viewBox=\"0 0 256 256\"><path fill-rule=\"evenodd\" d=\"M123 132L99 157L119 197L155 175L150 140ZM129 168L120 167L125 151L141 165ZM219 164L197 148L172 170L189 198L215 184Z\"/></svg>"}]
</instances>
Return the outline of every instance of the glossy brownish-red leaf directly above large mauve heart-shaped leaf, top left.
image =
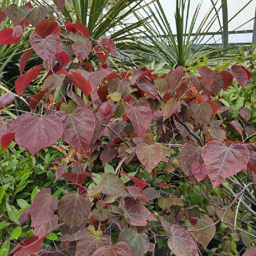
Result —
<instances>
[{"instance_id":1,"label":"glossy brownish-red leaf directly above large mauve heart-shaped leaf, top left","mask_svg":"<svg viewBox=\"0 0 256 256\"><path fill-rule=\"evenodd\" d=\"M46 18L36 26L36 34L42 38L54 35L60 31L59 24L53 17Z\"/></svg>"}]
</instances>

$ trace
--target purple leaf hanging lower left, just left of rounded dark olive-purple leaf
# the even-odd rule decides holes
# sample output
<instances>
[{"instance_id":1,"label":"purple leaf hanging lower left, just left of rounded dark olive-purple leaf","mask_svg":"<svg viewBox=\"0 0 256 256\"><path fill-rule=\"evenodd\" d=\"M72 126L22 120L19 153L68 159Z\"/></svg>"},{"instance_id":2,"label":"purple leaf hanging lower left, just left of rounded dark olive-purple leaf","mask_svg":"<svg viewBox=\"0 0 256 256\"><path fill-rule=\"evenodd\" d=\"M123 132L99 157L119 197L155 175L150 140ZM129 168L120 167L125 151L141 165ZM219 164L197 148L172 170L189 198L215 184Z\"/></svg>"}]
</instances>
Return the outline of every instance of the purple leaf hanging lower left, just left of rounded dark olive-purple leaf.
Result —
<instances>
[{"instance_id":1,"label":"purple leaf hanging lower left, just left of rounded dark olive-purple leaf","mask_svg":"<svg viewBox=\"0 0 256 256\"><path fill-rule=\"evenodd\" d=\"M54 216L54 205L56 199L51 195L50 188L43 188L39 191L31 206L31 227L37 227L46 223L50 223Z\"/></svg>"}]
</instances>

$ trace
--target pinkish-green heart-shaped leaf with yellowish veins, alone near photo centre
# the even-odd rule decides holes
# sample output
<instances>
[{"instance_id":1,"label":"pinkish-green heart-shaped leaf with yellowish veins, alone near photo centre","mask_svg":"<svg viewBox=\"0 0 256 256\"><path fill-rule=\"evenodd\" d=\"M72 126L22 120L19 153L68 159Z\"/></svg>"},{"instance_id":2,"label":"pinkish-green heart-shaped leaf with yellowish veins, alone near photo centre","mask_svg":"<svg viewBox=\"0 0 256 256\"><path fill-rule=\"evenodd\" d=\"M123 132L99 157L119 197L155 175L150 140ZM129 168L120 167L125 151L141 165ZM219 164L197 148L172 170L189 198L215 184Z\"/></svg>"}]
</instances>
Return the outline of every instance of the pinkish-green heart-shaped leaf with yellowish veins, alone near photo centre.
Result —
<instances>
[{"instance_id":1,"label":"pinkish-green heart-shaped leaf with yellowish veins, alone near photo centre","mask_svg":"<svg viewBox=\"0 0 256 256\"><path fill-rule=\"evenodd\" d=\"M140 143L136 149L136 154L141 164L145 166L148 172L151 172L162 159L163 149L160 145Z\"/></svg>"}]
</instances>

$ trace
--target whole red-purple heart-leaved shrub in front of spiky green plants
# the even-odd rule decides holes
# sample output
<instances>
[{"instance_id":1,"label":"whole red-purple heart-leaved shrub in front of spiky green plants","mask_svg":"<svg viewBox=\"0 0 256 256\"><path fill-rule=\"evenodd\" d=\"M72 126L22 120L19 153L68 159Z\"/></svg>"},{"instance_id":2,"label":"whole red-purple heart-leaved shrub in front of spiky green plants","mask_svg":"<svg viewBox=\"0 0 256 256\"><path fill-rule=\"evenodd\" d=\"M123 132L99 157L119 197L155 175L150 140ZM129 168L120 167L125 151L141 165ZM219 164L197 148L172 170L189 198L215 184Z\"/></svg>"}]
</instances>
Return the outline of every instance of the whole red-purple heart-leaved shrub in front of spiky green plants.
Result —
<instances>
[{"instance_id":1,"label":"whole red-purple heart-leaved shrub in front of spiky green plants","mask_svg":"<svg viewBox=\"0 0 256 256\"><path fill-rule=\"evenodd\" d=\"M63 8L64 1L55 2ZM130 59L135 68L117 72L106 65L108 56L116 57L116 44L108 38L93 40L82 23L62 23L60 14L57 18L44 6L33 7L29 2L20 7L11 4L0 12L1 20L5 16L14 27L0 31L0 44L19 43L30 25L35 33L30 35L31 48L20 58L17 94L4 93L0 108L10 106L15 96L25 97L23 91L39 73L45 79L42 91L28 100L30 113L8 122L0 119L2 151L12 141L32 156L54 145L63 152L52 163L56 182L60 177L68 180L69 192L56 198L50 188L44 188L15 218L5 214L8 202L2 202L1 217L23 232L29 231L27 238L14 241L17 245L9 252L9 244L4 243L4 255L154 255L157 237L168 238L168 246L177 256L200 255L198 247L207 247L218 224L243 233L236 220L228 217L234 215L238 199L247 192L255 203L249 192L253 182L240 184L239 193L232 194L230 201L210 202L218 216L214 222L208 215L192 216L193 207L185 214L177 208L184 201L168 192L173 187L170 180L154 182L153 178L165 173L159 167L164 164L172 166L174 173L182 173L191 186L210 180L212 188L217 188L226 179L233 182L230 177L247 172L247 167L256 173L254 144L236 140L250 136L244 126L250 110L240 109L240 119L229 122L228 107L220 94L233 79L245 88L249 71L243 66L221 71L201 66L197 73L180 66L159 76ZM42 59L42 65L24 72L32 52ZM98 66L87 60L91 54L98 56ZM78 89L84 100L76 93ZM63 97L59 102L53 102L56 91ZM231 130L238 136L229 135ZM97 163L117 165L103 172ZM138 163L149 174L147 179L130 172ZM2 172L3 185L4 175ZM152 211L156 202L161 211ZM242 201L241 205L256 217L247 204ZM53 248L41 249L46 236L56 229L59 241ZM119 230L114 240L112 230ZM255 254L254 248L244 256Z\"/></svg>"}]
</instances>

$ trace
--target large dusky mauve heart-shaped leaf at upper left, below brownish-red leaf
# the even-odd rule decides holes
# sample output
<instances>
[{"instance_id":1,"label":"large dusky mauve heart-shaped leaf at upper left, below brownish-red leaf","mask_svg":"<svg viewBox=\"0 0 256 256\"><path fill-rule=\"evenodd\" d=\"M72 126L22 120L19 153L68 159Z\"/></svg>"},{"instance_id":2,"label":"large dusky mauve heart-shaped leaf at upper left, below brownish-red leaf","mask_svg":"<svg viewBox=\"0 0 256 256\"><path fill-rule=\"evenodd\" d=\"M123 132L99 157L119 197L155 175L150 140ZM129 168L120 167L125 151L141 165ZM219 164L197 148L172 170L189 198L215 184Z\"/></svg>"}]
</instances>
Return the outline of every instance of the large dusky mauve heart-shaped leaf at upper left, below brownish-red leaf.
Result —
<instances>
[{"instance_id":1,"label":"large dusky mauve heart-shaped leaf at upper left, below brownish-red leaf","mask_svg":"<svg viewBox=\"0 0 256 256\"><path fill-rule=\"evenodd\" d=\"M43 39L41 36L31 34L29 41L36 54L45 61L48 68L51 68L55 54L60 52L60 36L50 35Z\"/></svg>"}]
</instances>

